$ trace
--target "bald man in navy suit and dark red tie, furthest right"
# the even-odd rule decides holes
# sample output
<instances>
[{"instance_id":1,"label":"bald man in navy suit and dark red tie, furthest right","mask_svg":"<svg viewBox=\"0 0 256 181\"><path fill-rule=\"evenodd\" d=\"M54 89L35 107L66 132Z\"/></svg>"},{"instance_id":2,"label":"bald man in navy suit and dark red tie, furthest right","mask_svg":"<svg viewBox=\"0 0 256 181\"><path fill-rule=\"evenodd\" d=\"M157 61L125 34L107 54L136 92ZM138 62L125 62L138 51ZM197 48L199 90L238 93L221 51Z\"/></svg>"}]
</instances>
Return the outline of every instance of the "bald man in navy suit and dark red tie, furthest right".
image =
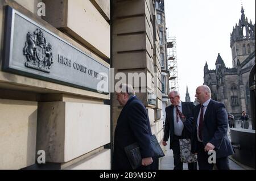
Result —
<instances>
[{"instance_id":1,"label":"bald man in navy suit and dark red tie, furthest right","mask_svg":"<svg viewBox=\"0 0 256 181\"><path fill-rule=\"evenodd\" d=\"M218 170L228 170L228 156L234 154L228 138L228 114L224 104L212 99L208 86L196 89L196 98L200 103L194 110L192 153L197 153L200 170L212 170L211 158L215 151ZM214 153L213 151L213 153ZM212 160L213 161L213 160Z\"/></svg>"}]
</instances>

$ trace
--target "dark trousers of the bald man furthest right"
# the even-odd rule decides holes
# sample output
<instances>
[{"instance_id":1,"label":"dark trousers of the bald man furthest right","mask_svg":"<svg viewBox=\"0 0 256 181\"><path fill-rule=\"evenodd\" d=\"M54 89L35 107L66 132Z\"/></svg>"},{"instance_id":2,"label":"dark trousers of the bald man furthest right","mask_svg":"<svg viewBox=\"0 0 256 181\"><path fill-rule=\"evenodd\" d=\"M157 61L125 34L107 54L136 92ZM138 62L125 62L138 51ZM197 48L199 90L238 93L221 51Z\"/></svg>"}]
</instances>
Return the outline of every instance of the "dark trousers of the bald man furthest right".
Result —
<instances>
[{"instance_id":1,"label":"dark trousers of the bald man furthest right","mask_svg":"<svg viewBox=\"0 0 256 181\"><path fill-rule=\"evenodd\" d=\"M212 170L214 164L208 162L208 155L207 152L204 151L203 142L197 141L197 161L199 165L199 170ZM218 170L229 170L229 161L228 157L217 158L216 159L216 166Z\"/></svg>"}]
</instances>

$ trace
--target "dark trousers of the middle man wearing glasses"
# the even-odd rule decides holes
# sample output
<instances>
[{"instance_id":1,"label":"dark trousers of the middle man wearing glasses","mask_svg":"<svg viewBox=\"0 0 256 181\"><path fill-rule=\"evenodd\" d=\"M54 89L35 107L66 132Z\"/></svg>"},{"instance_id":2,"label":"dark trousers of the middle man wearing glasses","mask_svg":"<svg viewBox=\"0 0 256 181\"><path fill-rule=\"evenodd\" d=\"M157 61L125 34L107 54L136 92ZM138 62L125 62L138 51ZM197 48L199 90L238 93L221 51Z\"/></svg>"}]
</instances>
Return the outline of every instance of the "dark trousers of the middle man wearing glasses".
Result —
<instances>
[{"instance_id":1,"label":"dark trousers of the middle man wearing glasses","mask_svg":"<svg viewBox=\"0 0 256 181\"><path fill-rule=\"evenodd\" d=\"M180 161L180 144L181 136L175 136L172 140L172 151L174 153L174 170L183 170L183 162ZM188 163L188 170L197 170L197 163Z\"/></svg>"}]
</instances>

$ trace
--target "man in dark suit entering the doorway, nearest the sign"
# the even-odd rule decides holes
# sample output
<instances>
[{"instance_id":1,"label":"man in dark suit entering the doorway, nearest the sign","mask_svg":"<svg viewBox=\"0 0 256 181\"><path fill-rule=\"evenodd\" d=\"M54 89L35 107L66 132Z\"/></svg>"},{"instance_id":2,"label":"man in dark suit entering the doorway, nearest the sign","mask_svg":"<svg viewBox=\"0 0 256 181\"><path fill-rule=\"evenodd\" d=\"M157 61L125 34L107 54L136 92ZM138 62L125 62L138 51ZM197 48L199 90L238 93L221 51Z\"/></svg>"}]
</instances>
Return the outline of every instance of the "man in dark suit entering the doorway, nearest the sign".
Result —
<instances>
[{"instance_id":1,"label":"man in dark suit entering the doorway, nearest the sign","mask_svg":"<svg viewBox=\"0 0 256 181\"><path fill-rule=\"evenodd\" d=\"M125 153L125 147L138 143L142 166L139 170L151 169L152 149L150 144L151 128L147 110L135 96L131 85L121 84L117 91L117 100L123 109L117 120L114 135L113 169L132 169Z\"/></svg>"}]
</instances>

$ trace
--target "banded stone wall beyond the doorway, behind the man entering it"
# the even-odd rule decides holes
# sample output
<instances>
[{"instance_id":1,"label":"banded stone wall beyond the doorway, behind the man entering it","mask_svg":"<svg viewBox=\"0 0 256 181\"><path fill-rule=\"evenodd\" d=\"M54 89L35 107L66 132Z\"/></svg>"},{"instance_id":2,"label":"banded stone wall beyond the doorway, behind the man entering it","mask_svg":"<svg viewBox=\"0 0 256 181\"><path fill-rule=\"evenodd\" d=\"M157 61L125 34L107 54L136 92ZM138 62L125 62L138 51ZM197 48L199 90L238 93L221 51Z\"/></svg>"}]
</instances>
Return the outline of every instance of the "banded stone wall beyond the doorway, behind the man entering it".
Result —
<instances>
[{"instance_id":1,"label":"banded stone wall beyond the doorway, behind the man entering it","mask_svg":"<svg viewBox=\"0 0 256 181\"><path fill-rule=\"evenodd\" d=\"M135 79L129 82L136 95L147 108L152 134L158 141L163 139L162 79L160 68L160 31L155 1L113 1L112 9L112 61L116 73L139 73L146 75L146 81L137 85ZM128 77L128 76L126 76ZM115 80L115 83L120 82ZM112 99L113 134L122 107L117 97Z\"/></svg>"}]
</instances>

